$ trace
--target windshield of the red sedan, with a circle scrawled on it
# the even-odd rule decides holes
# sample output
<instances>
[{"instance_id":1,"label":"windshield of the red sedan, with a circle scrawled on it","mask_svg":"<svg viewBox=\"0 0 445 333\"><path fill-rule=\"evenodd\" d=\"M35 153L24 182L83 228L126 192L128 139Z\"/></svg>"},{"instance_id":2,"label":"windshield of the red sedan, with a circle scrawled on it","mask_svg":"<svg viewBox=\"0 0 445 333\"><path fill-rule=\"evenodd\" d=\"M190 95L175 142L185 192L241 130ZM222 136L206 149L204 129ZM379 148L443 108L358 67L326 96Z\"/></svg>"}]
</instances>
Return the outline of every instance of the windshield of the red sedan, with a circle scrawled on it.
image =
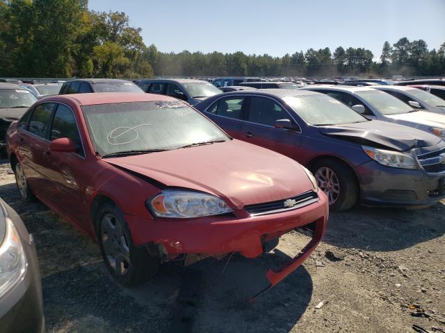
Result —
<instances>
[{"instance_id":1,"label":"windshield of the red sedan, with a circle scrawled on it","mask_svg":"<svg viewBox=\"0 0 445 333\"><path fill-rule=\"evenodd\" d=\"M82 111L92 144L102 156L229 139L206 117L179 101L85 105Z\"/></svg>"}]
</instances>

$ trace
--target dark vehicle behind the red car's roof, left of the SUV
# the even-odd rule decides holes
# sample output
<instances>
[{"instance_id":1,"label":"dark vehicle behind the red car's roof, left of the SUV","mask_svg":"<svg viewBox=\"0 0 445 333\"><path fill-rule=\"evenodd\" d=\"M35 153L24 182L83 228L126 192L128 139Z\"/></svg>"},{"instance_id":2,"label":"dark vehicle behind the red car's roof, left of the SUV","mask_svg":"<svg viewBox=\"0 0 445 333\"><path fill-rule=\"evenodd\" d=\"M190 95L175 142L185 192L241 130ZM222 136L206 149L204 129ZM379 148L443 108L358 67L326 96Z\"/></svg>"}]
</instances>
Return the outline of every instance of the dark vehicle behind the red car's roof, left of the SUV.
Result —
<instances>
[{"instance_id":1,"label":"dark vehicle behind the red car's roof, left of the SUV","mask_svg":"<svg viewBox=\"0 0 445 333\"><path fill-rule=\"evenodd\" d=\"M143 92L127 80L114 78L82 78L63 83L59 94L86 94L90 92Z\"/></svg>"}]
</instances>

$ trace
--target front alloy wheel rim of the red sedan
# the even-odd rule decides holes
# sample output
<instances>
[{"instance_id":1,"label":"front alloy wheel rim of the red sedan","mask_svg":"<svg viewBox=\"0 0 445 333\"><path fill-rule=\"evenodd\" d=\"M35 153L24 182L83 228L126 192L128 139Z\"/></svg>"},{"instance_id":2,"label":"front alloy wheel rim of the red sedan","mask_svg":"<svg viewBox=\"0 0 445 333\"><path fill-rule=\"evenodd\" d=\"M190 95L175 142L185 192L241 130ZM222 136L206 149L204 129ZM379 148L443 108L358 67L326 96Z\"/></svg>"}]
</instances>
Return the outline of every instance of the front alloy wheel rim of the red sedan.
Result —
<instances>
[{"instance_id":1,"label":"front alloy wheel rim of the red sedan","mask_svg":"<svg viewBox=\"0 0 445 333\"><path fill-rule=\"evenodd\" d=\"M125 275L130 268L130 248L124 226L113 214L105 214L102 218L102 248L108 264L118 275Z\"/></svg>"}]
</instances>

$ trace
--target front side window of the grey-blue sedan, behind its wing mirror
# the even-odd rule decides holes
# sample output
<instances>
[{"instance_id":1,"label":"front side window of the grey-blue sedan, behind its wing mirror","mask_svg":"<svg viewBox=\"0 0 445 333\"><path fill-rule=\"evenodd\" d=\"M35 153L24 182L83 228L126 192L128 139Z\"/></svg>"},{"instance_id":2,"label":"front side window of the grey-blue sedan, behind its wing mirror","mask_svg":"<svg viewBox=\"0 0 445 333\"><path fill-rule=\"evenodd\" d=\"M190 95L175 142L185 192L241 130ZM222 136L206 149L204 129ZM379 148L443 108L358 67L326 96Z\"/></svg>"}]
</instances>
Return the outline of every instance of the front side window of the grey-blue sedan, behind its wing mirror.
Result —
<instances>
[{"instance_id":1,"label":"front side window of the grey-blue sedan, behind its wing mirror","mask_svg":"<svg viewBox=\"0 0 445 333\"><path fill-rule=\"evenodd\" d=\"M274 126L278 119L289 119L289 115L272 99L252 97L249 105L248 121Z\"/></svg>"}]
</instances>

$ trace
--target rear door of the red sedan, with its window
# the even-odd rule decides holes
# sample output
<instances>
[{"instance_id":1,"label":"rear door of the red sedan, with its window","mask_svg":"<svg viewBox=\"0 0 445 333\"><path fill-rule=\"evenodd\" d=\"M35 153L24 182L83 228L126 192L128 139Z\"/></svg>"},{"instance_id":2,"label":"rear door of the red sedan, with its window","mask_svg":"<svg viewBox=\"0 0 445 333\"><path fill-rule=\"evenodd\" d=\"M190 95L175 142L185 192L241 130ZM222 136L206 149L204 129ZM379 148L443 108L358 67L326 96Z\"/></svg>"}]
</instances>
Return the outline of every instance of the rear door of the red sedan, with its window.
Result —
<instances>
[{"instance_id":1,"label":"rear door of the red sedan, with its window","mask_svg":"<svg viewBox=\"0 0 445 333\"><path fill-rule=\"evenodd\" d=\"M24 173L37 196L51 197L54 188L48 179L49 126L54 103L42 103L31 113L29 123L17 135L18 157Z\"/></svg>"}]
</instances>

